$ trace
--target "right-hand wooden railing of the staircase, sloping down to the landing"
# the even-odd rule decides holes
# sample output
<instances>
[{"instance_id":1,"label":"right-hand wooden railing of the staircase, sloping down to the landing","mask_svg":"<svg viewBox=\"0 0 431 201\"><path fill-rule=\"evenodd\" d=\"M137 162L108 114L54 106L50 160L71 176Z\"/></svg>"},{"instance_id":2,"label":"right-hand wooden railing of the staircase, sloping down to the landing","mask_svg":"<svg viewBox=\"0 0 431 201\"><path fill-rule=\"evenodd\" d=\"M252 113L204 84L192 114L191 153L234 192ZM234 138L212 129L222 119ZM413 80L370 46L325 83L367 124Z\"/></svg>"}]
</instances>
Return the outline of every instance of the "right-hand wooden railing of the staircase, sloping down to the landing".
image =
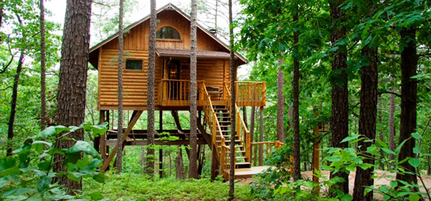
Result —
<instances>
[{"instance_id":1,"label":"right-hand wooden railing of the staircase, sloping down to the landing","mask_svg":"<svg viewBox=\"0 0 431 201\"><path fill-rule=\"evenodd\" d=\"M226 101L226 107L228 108L228 111L231 111L231 91L229 90L228 83L224 83L223 91L225 92L225 101ZM235 115L236 115L236 136L241 140L244 151L245 151L245 161L251 162L250 158L250 150L251 150L251 144L250 144L250 131L247 128L247 125L244 122L244 118L241 116L240 110L238 109L237 104L235 103Z\"/></svg>"}]
</instances>

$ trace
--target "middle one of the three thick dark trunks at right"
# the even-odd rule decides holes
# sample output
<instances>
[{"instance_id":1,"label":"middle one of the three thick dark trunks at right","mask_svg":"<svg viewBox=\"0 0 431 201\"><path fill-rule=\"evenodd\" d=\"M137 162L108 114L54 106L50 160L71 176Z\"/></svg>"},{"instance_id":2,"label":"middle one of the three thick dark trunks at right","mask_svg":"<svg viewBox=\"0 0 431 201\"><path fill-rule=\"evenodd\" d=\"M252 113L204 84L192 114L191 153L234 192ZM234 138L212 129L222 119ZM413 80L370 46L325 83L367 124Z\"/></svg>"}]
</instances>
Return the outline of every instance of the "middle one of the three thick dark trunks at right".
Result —
<instances>
[{"instance_id":1,"label":"middle one of the three thick dark trunks at right","mask_svg":"<svg viewBox=\"0 0 431 201\"><path fill-rule=\"evenodd\" d=\"M362 48L362 56L367 57L369 65L362 66L361 75L361 108L359 111L359 134L374 140L376 135L376 114L377 114L377 47L365 45ZM372 142L358 142L360 152L366 152ZM374 159L364 159L364 163L374 164ZM372 201L373 192L364 195L367 186L374 184L372 178L374 167L366 170L356 167L355 187L353 189L353 200Z\"/></svg>"}]
</instances>

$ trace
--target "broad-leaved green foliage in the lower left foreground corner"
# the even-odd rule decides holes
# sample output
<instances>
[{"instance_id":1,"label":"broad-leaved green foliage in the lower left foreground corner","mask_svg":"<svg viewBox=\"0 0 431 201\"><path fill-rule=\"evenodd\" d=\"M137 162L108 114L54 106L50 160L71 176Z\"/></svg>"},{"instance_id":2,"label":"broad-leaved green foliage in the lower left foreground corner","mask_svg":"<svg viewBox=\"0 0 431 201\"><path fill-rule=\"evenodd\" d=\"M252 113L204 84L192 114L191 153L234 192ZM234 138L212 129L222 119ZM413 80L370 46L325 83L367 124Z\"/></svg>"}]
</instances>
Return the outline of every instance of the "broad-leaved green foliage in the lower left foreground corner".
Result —
<instances>
[{"instance_id":1,"label":"broad-leaved green foliage in the lower left foreground corner","mask_svg":"<svg viewBox=\"0 0 431 201\"><path fill-rule=\"evenodd\" d=\"M106 176L97 171L102 160L91 144L76 141L70 148L56 148L45 139L64 139L69 133L83 129L93 135L106 132L107 123L93 126L81 124L79 127L50 126L37 136L26 139L13 155L0 158L0 198L6 200L69 200L84 198L100 200L98 192L82 195L67 195L66 189L53 183L53 179L66 175L69 179L81 181L82 178L92 178L104 182ZM64 134L66 133L66 134ZM63 134L61 136L58 136ZM64 155L66 171L53 172L54 155Z\"/></svg>"}]
</instances>

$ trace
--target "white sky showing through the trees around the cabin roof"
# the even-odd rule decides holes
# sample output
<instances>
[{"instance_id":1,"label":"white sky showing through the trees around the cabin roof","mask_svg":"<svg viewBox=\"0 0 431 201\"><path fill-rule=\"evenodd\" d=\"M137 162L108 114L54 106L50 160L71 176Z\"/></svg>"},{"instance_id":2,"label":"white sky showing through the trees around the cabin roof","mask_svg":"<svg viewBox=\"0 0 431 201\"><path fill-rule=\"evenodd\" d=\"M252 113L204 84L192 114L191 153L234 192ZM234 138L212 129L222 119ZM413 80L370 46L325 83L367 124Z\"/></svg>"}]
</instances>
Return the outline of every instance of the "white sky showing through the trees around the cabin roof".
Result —
<instances>
[{"instance_id":1,"label":"white sky showing through the trees around the cabin roof","mask_svg":"<svg viewBox=\"0 0 431 201\"><path fill-rule=\"evenodd\" d=\"M168 3L172 3L175 6L181 6L181 5L188 5L190 3L190 0L156 0L156 8L159 9L162 6L165 6ZM47 16L47 20L52 22L57 22L61 24L61 27L63 27L64 19L65 19L65 13L66 13L66 0L49 0L45 3L45 7L47 10L52 12L51 16ZM126 13L125 16L129 16L127 18L130 22L136 22L145 16L150 14L150 1L142 1L139 0L138 4L136 5L137 9L134 9L133 13ZM234 13L238 11L238 7L234 7ZM219 24L223 23L223 20L218 20ZM202 22L198 22L201 25L204 25ZM228 24L226 25L219 25L219 27L228 27ZM91 40L91 39L90 39ZM242 65L241 68L238 69L238 78L242 79L245 77L248 77L248 74L251 70L251 65Z\"/></svg>"}]
</instances>

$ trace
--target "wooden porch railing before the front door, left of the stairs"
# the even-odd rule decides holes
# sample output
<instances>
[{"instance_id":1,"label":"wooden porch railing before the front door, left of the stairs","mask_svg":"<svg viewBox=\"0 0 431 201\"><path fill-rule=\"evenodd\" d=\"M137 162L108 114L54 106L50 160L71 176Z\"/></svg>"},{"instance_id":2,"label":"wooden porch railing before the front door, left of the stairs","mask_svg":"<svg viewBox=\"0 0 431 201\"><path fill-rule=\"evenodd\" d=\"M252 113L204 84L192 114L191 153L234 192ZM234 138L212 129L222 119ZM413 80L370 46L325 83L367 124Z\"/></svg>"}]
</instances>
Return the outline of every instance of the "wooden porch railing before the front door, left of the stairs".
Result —
<instances>
[{"instance_id":1,"label":"wooden porch railing before the front door, left of the stairs","mask_svg":"<svg viewBox=\"0 0 431 201\"><path fill-rule=\"evenodd\" d=\"M204 81L197 81L197 106L203 105ZM189 106L190 80L162 79L158 89L159 105L162 106Z\"/></svg>"}]
</instances>

